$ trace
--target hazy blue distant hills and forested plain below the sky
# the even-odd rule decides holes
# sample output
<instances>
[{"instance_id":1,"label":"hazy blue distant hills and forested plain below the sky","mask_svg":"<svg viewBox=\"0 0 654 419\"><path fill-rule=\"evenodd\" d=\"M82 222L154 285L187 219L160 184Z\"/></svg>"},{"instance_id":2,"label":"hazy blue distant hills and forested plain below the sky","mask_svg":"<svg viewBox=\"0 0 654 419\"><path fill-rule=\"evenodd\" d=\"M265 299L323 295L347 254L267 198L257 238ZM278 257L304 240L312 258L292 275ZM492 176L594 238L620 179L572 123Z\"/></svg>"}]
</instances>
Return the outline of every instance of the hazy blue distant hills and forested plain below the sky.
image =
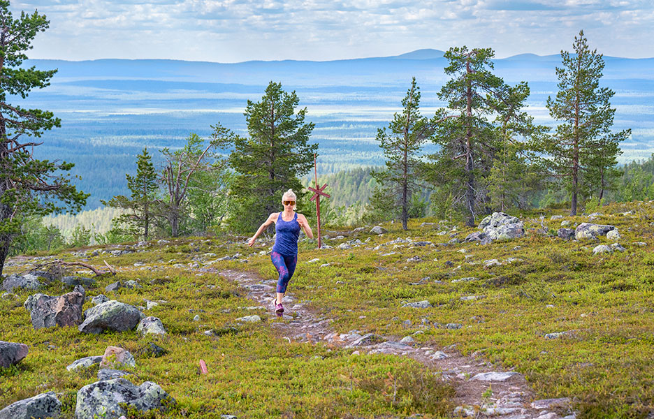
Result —
<instances>
[{"instance_id":1,"label":"hazy blue distant hills and forested plain below the sky","mask_svg":"<svg viewBox=\"0 0 654 419\"><path fill-rule=\"evenodd\" d=\"M80 189L92 193L87 207L94 208L100 199L126 193L124 175L135 171L143 147L181 147L189 133L209 135L217 122L245 134L247 101L259 101L271 80L296 91L307 120L316 124L312 141L319 144L319 173L382 164L377 128L400 111L412 77L421 88L423 115L445 105L437 96L449 80L443 54L426 49L391 57L231 64L31 59L24 65L59 71L49 87L31 92L20 104L52 110L61 118L61 128L45 133L36 154L75 163ZM604 61L602 87L616 91L614 128L632 128L620 161L646 159L654 152L654 58ZM537 123L553 126L545 103L556 94L560 55L518 54L494 63L494 72L506 82L528 82L527 111Z\"/></svg>"}]
</instances>

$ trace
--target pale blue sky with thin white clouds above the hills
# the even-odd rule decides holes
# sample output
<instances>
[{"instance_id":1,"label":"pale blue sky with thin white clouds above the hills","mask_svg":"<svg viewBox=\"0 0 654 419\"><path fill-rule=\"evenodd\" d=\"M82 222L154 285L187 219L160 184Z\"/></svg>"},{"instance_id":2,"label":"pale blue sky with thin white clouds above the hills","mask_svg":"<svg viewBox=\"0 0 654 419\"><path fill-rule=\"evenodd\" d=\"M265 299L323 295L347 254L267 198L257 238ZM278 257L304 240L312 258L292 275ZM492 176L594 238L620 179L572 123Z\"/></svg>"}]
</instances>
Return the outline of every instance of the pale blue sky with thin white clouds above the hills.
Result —
<instances>
[{"instance_id":1,"label":"pale blue sky with thin white clouds above the hills","mask_svg":"<svg viewBox=\"0 0 654 419\"><path fill-rule=\"evenodd\" d=\"M496 57L569 50L654 57L651 0L13 0L50 29L31 58L332 60L454 45Z\"/></svg>"}]
</instances>

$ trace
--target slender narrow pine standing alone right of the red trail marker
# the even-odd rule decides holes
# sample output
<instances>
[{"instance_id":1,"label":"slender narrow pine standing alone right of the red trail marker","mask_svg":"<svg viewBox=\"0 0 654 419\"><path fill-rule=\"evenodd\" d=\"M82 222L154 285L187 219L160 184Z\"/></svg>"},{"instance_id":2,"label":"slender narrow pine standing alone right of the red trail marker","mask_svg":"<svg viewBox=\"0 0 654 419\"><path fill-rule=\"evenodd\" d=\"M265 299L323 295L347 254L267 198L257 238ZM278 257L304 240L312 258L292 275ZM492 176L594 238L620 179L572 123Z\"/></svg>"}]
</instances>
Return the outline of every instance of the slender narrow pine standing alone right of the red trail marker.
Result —
<instances>
[{"instance_id":1,"label":"slender narrow pine standing alone right of the red trail marker","mask_svg":"<svg viewBox=\"0 0 654 419\"><path fill-rule=\"evenodd\" d=\"M407 230L412 193L420 187L416 172L421 166L422 145L433 133L429 120L420 115L420 88L416 85L416 78L412 79L402 106L402 112L393 115L388 131L387 128L377 130L376 140L384 149L386 169L373 172L380 186L372 204L379 207L382 200L389 199L384 202L384 207L397 206L402 228Z\"/></svg>"}]
</instances>

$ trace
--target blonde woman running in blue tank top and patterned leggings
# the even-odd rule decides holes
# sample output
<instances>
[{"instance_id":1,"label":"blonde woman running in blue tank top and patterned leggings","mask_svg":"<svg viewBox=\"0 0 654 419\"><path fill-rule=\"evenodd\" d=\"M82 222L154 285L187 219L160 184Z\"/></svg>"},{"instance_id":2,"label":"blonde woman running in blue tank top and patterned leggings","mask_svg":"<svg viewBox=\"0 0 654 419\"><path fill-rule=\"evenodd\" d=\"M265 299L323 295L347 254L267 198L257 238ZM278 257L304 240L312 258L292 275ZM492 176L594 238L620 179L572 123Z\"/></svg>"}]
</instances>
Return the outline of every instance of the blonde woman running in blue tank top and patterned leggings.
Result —
<instances>
[{"instance_id":1,"label":"blonde woman running in blue tank top and patterned leggings","mask_svg":"<svg viewBox=\"0 0 654 419\"><path fill-rule=\"evenodd\" d=\"M247 242L247 245L252 247L256 237L259 237L263 233L263 230L266 230L270 224L275 223L277 236L273 245L273 253L270 253L270 259L273 260L273 265L275 265L277 272L279 272L277 297L273 300L276 313L284 312L282 297L286 293L286 286L289 285L289 281L293 277L293 272L295 272L298 263L298 237L300 237L300 227L304 230L307 237L310 239L313 238L313 232L309 226L307 217L295 212L296 194L293 193L293 189L284 192L282 204L284 204L284 211L270 214L266 222L261 224L259 230L256 230L254 236Z\"/></svg>"}]
</instances>

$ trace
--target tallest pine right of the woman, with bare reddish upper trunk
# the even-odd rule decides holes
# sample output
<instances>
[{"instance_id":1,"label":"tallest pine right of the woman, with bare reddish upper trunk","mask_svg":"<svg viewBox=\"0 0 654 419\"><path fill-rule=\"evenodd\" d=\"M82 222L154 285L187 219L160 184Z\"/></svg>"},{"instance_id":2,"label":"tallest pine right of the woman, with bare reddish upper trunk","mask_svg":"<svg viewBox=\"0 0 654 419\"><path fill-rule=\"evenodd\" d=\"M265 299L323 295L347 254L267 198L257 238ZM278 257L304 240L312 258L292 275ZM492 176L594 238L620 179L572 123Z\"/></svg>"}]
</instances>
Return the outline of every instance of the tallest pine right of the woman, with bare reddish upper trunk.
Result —
<instances>
[{"instance_id":1,"label":"tallest pine right of the woman, with bare reddish upper trunk","mask_svg":"<svg viewBox=\"0 0 654 419\"><path fill-rule=\"evenodd\" d=\"M439 214L449 209L439 203L456 205L465 215L467 226L474 226L477 212L488 212L488 175L502 140L488 118L506 111L516 117L515 108L507 105L511 89L502 78L493 75L494 52L490 48L468 50L452 47L444 54L449 61L445 73L452 75L438 96L448 103L434 117L434 142L439 152L430 156L433 164L426 178L438 185L435 191ZM511 112L509 110L513 109Z\"/></svg>"}]
</instances>

